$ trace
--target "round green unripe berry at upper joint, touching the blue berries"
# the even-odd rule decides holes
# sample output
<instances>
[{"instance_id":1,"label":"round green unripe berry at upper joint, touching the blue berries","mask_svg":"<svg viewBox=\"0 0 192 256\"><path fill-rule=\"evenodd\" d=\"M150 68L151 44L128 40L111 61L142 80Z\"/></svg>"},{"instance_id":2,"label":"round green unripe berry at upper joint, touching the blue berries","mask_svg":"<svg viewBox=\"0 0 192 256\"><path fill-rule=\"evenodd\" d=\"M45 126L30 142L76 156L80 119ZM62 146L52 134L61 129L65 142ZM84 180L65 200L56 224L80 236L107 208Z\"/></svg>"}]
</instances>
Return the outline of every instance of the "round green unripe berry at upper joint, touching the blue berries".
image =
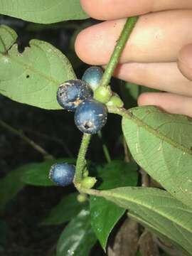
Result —
<instances>
[{"instance_id":1,"label":"round green unripe berry at upper joint, touching the blue berries","mask_svg":"<svg viewBox=\"0 0 192 256\"><path fill-rule=\"evenodd\" d=\"M100 86L94 92L94 99L106 104L112 97L112 90L110 86Z\"/></svg>"}]
</instances>

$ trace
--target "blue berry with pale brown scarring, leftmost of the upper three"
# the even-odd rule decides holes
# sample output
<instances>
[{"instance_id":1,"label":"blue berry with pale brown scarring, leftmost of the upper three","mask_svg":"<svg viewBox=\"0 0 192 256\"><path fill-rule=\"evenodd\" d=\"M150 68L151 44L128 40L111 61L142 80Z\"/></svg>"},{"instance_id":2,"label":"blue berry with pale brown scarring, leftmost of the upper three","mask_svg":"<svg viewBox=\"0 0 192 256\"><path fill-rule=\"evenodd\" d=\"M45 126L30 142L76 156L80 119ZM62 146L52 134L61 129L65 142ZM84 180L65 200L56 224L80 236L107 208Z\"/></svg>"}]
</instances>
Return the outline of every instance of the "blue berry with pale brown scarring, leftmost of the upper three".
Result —
<instances>
[{"instance_id":1,"label":"blue berry with pale brown scarring, leftmost of the upper three","mask_svg":"<svg viewBox=\"0 0 192 256\"><path fill-rule=\"evenodd\" d=\"M82 80L68 80L57 91L57 100L61 107L68 111L75 111L80 103L92 97L93 92L89 85Z\"/></svg>"}]
</instances>

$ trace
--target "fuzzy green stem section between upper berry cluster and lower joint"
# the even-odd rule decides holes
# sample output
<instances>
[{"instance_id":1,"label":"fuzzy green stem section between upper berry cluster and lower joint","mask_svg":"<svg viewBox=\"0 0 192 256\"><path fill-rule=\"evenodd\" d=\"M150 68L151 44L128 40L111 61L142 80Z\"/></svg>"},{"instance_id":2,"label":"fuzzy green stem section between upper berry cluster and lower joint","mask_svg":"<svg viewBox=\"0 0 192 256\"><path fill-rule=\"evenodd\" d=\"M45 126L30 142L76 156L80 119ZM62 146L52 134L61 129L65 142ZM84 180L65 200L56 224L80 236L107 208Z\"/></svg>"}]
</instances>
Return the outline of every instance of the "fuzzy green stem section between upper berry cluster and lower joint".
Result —
<instances>
[{"instance_id":1,"label":"fuzzy green stem section between upper berry cluster and lower joint","mask_svg":"<svg viewBox=\"0 0 192 256\"><path fill-rule=\"evenodd\" d=\"M78 159L76 163L75 183L79 183L82 180L83 171L86 165L85 155L87 153L87 148L90 144L90 139L91 139L90 134L83 134L82 142L81 142L80 150L78 154Z\"/></svg>"}]
</instances>

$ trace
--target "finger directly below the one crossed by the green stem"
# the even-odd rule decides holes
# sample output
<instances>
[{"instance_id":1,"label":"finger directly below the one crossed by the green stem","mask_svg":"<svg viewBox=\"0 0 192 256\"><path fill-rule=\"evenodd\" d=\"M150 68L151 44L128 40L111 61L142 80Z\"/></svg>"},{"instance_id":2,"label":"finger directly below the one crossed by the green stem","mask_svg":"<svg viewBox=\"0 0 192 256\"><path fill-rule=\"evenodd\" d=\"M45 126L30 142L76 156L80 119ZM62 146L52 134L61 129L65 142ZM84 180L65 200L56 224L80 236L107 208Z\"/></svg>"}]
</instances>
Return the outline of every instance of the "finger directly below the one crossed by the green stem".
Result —
<instances>
[{"instance_id":1,"label":"finger directly below the one crossed by the green stem","mask_svg":"<svg viewBox=\"0 0 192 256\"><path fill-rule=\"evenodd\" d=\"M192 81L181 74L176 63L122 64L116 68L114 76L137 85L192 96Z\"/></svg>"}]
</instances>

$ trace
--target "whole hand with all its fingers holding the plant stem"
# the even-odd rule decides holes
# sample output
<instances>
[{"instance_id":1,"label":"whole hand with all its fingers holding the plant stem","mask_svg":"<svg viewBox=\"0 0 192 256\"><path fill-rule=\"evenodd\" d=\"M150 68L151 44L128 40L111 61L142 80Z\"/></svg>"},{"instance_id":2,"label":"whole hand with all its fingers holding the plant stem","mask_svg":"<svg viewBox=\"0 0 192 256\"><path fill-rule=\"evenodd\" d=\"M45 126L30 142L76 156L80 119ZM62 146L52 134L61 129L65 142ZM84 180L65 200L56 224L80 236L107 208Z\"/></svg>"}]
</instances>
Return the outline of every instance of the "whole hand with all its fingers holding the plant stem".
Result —
<instances>
[{"instance_id":1,"label":"whole hand with all its fingers holding the plant stem","mask_svg":"<svg viewBox=\"0 0 192 256\"><path fill-rule=\"evenodd\" d=\"M78 34L79 58L105 66L126 18L139 15L114 76L163 91L143 93L138 105L192 117L192 1L81 0L81 4L102 22Z\"/></svg>"}]
</instances>

